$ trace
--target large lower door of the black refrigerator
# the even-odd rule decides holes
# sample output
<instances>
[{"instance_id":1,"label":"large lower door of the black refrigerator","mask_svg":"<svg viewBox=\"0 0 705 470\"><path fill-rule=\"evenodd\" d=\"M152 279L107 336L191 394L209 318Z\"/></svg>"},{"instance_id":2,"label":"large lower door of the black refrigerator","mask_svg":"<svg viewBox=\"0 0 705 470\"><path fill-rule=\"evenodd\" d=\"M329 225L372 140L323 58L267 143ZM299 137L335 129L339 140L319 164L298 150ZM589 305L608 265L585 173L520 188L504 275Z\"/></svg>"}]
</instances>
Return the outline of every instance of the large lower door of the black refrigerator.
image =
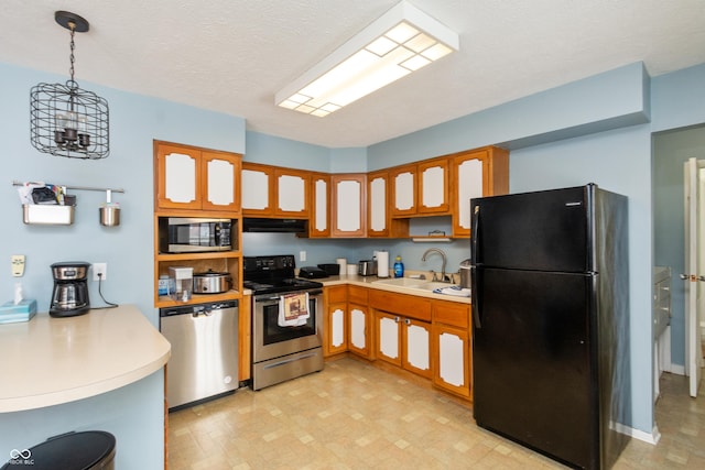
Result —
<instances>
[{"instance_id":1,"label":"large lower door of the black refrigerator","mask_svg":"<svg viewBox=\"0 0 705 470\"><path fill-rule=\"evenodd\" d=\"M593 276L486 269L476 277L477 424L564 462L596 468Z\"/></svg>"}]
</instances>

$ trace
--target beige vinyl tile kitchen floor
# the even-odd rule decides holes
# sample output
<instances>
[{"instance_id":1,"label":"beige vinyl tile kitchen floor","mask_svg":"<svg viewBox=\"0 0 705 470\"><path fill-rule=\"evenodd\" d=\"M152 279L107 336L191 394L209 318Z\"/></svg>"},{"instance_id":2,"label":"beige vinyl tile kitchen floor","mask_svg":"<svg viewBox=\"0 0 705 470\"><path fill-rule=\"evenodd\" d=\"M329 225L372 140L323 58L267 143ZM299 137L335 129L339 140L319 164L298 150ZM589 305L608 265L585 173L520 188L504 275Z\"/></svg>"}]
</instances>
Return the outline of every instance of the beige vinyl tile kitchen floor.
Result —
<instances>
[{"instance_id":1,"label":"beige vinyl tile kitchen floor","mask_svg":"<svg viewBox=\"0 0 705 470\"><path fill-rule=\"evenodd\" d=\"M631 439L615 469L705 469L705 394L664 373L661 439ZM468 406L345 358L322 372L169 416L170 470L563 469L475 425Z\"/></svg>"}]
</instances>

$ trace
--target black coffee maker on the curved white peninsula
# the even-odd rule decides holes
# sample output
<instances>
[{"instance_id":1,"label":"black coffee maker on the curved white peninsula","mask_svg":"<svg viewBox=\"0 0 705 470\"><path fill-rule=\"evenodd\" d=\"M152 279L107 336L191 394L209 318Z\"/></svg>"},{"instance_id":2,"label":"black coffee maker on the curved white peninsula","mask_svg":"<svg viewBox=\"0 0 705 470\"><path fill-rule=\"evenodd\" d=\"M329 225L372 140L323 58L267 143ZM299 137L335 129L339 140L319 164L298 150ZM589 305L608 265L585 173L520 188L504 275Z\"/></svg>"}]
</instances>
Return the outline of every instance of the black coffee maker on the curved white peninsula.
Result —
<instances>
[{"instance_id":1,"label":"black coffee maker on the curved white peninsula","mask_svg":"<svg viewBox=\"0 0 705 470\"><path fill-rule=\"evenodd\" d=\"M52 264L54 294L48 314L52 317L75 317L90 309L88 300L88 267L90 263L67 261Z\"/></svg>"}]
</instances>

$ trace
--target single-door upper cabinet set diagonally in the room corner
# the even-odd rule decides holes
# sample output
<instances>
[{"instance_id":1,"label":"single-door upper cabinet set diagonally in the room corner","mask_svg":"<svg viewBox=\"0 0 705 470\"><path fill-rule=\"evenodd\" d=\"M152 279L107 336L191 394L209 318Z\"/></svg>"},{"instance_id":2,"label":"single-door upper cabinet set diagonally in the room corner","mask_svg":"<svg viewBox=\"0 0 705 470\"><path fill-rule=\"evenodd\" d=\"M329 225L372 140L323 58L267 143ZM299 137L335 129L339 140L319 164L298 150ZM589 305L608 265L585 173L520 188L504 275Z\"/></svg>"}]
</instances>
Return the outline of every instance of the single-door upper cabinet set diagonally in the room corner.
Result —
<instances>
[{"instance_id":1,"label":"single-door upper cabinet set diagonally in the room corner","mask_svg":"<svg viewBox=\"0 0 705 470\"><path fill-rule=\"evenodd\" d=\"M332 237L365 237L366 188L364 173L330 175Z\"/></svg>"}]
</instances>

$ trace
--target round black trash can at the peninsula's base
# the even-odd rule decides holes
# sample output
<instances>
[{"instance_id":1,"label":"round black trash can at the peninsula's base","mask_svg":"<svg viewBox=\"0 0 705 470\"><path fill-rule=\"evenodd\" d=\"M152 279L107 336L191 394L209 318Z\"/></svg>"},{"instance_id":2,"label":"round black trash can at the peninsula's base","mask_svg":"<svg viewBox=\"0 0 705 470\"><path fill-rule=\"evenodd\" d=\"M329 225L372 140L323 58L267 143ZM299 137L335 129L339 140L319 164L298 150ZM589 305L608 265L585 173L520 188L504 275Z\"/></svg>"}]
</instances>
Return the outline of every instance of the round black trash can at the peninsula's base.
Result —
<instances>
[{"instance_id":1,"label":"round black trash can at the peninsula's base","mask_svg":"<svg viewBox=\"0 0 705 470\"><path fill-rule=\"evenodd\" d=\"M62 434L30 449L13 449L0 470L113 470L115 442L104 430Z\"/></svg>"}]
</instances>

